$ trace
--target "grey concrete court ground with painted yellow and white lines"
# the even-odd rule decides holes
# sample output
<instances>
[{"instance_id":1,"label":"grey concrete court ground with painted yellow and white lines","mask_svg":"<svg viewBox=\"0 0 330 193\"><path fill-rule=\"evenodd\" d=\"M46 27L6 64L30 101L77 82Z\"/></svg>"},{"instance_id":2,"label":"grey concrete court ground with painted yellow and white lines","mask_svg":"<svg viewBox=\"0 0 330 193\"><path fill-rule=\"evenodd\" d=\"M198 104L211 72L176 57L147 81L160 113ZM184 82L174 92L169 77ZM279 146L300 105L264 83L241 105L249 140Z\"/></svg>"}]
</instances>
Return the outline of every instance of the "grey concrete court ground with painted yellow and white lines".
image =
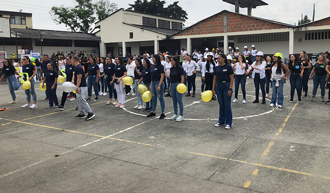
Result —
<instances>
[{"instance_id":1,"label":"grey concrete court ground with painted yellow and white lines","mask_svg":"<svg viewBox=\"0 0 330 193\"><path fill-rule=\"evenodd\" d=\"M0 107L9 108L0 112L0 192L330 192L330 106L320 95L289 103L285 84L283 108L269 107L270 98L252 104L248 79L248 102L240 92L225 130L214 127L219 105L201 101L200 85L183 99L182 122L169 120L171 98L164 120L133 109L135 97L122 110L106 96L89 103L96 116L85 121L74 119L76 102L46 109L39 83L37 109L21 108L22 88L8 105L8 84L0 85Z\"/></svg>"}]
</instances>

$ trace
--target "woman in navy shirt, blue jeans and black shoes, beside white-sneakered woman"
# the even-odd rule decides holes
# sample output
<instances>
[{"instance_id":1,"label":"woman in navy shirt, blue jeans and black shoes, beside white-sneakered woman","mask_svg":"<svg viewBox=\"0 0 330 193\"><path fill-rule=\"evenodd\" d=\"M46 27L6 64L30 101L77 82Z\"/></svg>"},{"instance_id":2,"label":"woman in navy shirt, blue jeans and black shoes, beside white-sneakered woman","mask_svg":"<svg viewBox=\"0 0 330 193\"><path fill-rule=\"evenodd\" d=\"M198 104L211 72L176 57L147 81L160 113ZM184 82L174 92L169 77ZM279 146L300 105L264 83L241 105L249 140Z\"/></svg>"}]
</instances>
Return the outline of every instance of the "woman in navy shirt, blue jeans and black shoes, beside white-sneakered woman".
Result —
<instances>
[{"instance_id":1,"label":"woman in navy shirt, blue jeans and black shoes, beside white-sneakered woman","mask_svg":"<svg viewBox=\"0 0 330 193\"><path fill-rule=\"evenodd\" d=\"M155 64L150 71L151 74L151 85L150 90L152 93L152 112L147 117L156 116L157 97L159 99L161 107L161 115L159 119L166 117L165 115L165 101L163 96L164 91L164 67L161 65L160 56L155 54L152 56L152 62Z\"/></svg>"}]
</instances>

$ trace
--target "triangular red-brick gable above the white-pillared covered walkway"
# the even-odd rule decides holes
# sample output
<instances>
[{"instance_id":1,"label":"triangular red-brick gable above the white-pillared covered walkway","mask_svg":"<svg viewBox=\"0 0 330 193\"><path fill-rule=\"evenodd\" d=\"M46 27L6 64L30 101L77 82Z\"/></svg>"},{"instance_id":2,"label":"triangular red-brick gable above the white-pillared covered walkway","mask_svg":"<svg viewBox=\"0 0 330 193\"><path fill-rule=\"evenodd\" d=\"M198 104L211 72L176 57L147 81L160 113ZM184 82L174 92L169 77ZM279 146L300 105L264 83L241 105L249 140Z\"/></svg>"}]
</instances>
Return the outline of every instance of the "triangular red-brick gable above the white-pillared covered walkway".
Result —
<instances>
[{"instance_id":1,"label":"triangular red-brick gable above the white-pillared covered walkway","mask_svg":"<svg viewBox=\"0 0 330 193\"><path fill-rule=\"evenodd\" d=\"M201 23L197 23L192 27L184 29L179 34L176 34L174 36L192 36L192 35L224 33L223 13L224 12L220 12L204 20ZM264 21L261 19L248 17L237 13L232 13L232 12L226 12L226 13L227 13L227 32L289 28L289 26L287 25L272 23L269 21Z\"/></svg>"}]
</instances>

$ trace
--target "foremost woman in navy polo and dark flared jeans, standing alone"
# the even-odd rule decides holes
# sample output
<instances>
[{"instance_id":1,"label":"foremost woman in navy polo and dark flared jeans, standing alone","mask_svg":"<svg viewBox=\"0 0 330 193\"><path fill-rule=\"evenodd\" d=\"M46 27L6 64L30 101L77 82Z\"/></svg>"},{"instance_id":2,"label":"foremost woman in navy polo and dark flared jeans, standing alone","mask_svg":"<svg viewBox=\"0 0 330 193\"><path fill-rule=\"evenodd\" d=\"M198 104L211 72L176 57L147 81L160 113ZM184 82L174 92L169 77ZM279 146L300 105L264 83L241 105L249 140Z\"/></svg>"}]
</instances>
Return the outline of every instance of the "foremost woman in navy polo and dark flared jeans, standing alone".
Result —
<instances>
[{"instance_id":1,"label":"foremost woman in navy polo and dark flared jeans, standing alone","mask_svg":"<svg viewBox=\"0 0 330 193\"><path fill-rule=\"evenodd\" d=\"M214 79L212 92L217 94L219 103L219 120L214 126L226 125L229 130L233 123L232 107L230 103L233 94L234 70L231 65L228 65L227 58L224 54L218 55L219 66L214 69Z\"/></svg>"}]
</instances>

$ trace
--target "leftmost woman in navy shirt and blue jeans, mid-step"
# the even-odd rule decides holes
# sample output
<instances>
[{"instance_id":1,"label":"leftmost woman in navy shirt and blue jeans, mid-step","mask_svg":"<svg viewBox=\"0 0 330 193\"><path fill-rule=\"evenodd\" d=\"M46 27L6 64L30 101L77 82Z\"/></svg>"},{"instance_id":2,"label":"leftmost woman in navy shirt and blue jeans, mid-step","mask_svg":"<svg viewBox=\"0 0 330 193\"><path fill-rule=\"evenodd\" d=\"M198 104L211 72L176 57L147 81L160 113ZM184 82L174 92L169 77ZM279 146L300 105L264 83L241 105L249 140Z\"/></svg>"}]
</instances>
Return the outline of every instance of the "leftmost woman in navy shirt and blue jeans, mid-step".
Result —
<instances>
[{"instance_id":1,"label":"leftmost woman in navy shirt and blue jeans, mid-step","mask_svg":"<svg viewBox=\"0 0 330 193\"><path fill-rule=\"evenodd\" d=\"M6 76L9 86L10 94L12 95L13 101L9 102L9 104L16 103L16 95L15 90L18 90L18 88L22 85L22 83L17 82L17 77L15 76L17 74L19 77L21 77L18 72L16 71L15 67L13 66L12 62L9 59L4 60L4 74L0 78L0 84L2 84L3 78Z\"/></svg>"}]
</instances>

